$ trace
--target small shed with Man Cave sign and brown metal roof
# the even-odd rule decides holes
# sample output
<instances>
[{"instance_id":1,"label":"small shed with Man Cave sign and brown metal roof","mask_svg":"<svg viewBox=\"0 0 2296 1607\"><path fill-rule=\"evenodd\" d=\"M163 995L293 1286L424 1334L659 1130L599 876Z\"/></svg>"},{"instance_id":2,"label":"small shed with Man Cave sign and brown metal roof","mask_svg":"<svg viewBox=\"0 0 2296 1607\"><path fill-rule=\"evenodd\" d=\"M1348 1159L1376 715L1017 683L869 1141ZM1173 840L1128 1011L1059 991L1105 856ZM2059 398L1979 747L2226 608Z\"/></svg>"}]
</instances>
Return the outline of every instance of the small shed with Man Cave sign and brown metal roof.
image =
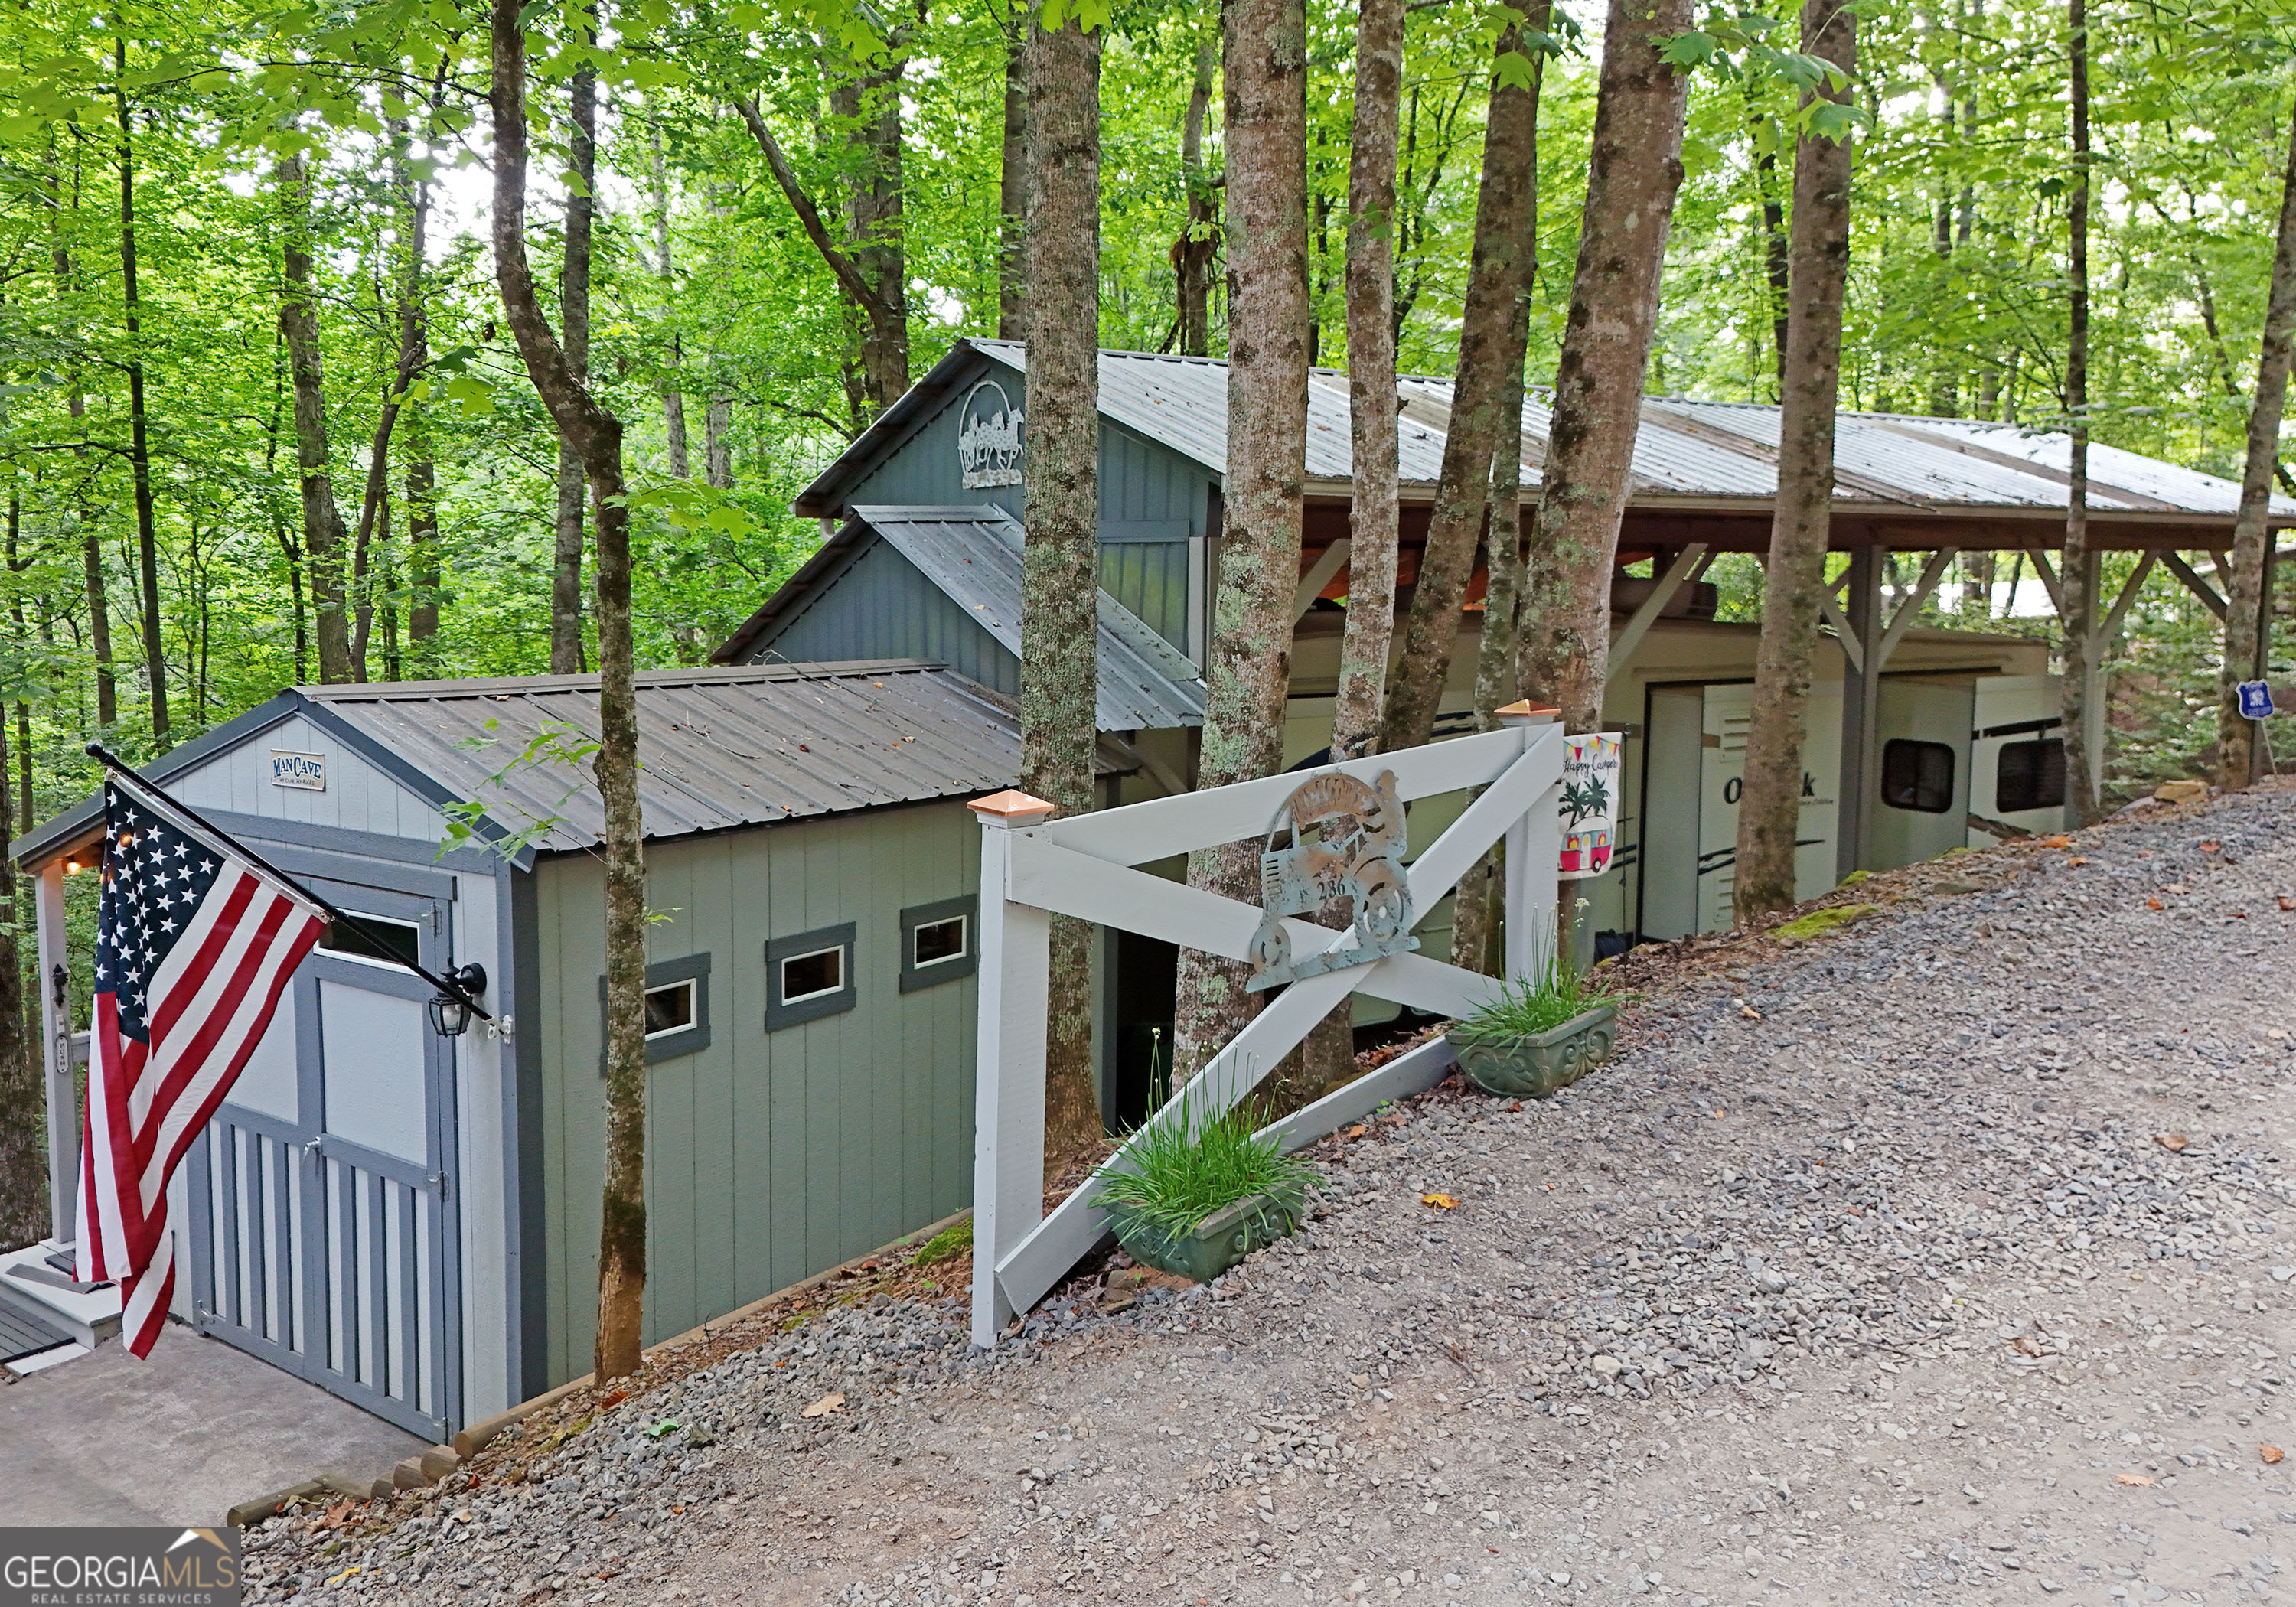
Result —
<instances>
[{"instance_id":1,"label":"small shed with Man Cave sign and brown metal roof","mask_svg":"<svg viewBox=\"0 0 2296 1607\"><path fill-rule=\"evenodd\" d=\"M331 927L193 1148L179 1315L432 1439L590 1366L597 730L597 677L301 686L145 771L367 927ZM652 1343L967 1203L964 804L1015 783L1019 723L918 659L657 670L638 762ZM90 801L11 845L44 976L85 971L69 865L99 833ZM494 1026L439 1035L377 948L478 962ZM85 978L44 1003L69 1240Z\"/></svg>"}]
</instances>

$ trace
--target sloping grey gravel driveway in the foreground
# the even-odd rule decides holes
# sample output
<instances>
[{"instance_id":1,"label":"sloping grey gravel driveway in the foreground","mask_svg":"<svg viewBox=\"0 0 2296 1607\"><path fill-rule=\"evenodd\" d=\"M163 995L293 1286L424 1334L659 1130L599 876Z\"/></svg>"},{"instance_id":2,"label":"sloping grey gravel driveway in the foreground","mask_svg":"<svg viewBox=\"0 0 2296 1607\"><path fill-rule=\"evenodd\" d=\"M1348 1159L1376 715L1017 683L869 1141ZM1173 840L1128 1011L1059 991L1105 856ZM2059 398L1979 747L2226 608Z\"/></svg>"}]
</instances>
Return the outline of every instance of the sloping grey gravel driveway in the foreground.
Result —
<instances>
[{"instance_id":1,"label":"sloping grey gravel driveway in the foreground","mask_svg":"<svg viewBox=\"0 0 2296 1607\"><path fill-rule=\"evenodd\" d=\"M889 1267L250 1531L248 1600L2285 1598L2296 787L1830 902L1639 950L1550 1102L1325 1141L1215 1286L983 1357Z\"/></svg>"}]
</instances>

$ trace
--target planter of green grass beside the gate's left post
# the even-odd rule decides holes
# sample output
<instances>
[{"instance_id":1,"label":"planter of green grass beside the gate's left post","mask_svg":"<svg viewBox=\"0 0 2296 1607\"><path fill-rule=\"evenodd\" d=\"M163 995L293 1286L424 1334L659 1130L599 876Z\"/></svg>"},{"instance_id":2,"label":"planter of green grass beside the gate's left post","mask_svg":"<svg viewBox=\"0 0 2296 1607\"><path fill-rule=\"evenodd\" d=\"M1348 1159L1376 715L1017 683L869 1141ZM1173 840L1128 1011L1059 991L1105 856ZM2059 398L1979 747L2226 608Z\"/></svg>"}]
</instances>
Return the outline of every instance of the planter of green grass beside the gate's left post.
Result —
<instances>
[{"instance_id":1,"label":"planter of green grass beside the gate's left post","mask_svg":"<svg viewBox=\"0 0 2296 1607\"><path fill-rule=\"evenodd\" d=\"M1093 1205L1125 1253L1143 1267L1210 1283L1300 1221L1322 1173L1274 1139L1251 1132L1251 1116L1228 1109L1196 1118L1182 1093L1169 1120L1137 1134L1123 1155L1093 1173Z\"/></svg>"}]
</instances>

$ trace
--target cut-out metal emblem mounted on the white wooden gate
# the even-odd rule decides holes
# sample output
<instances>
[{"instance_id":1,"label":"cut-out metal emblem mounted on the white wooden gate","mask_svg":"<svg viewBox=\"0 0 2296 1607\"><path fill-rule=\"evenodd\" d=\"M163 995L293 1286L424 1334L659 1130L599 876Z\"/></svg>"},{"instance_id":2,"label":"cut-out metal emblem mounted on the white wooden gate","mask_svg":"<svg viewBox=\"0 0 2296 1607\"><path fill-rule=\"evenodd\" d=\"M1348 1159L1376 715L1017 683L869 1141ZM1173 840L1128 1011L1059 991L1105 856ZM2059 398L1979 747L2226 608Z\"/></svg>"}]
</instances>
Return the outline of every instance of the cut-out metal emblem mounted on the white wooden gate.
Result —
<instances>
[{"instance_id":1,"label":"cut-out metal emblem mounted on the white wooden gate","mask_svg":"<svg viewBox=\"0 0 2296 1607\"><path fill-rule=\"evenodd\" d=\"M1281 987L1419 948L1403 854L1403 799L1391 769L1368 785L1343 771L1300 783L1267 822L1261 930L1251 934L1251 980L1244 987ZM1341 898L1350 905L1348 937L1320 955L1293 960L1283 916L1313 921Z\"/></svg>"}]
</instances>

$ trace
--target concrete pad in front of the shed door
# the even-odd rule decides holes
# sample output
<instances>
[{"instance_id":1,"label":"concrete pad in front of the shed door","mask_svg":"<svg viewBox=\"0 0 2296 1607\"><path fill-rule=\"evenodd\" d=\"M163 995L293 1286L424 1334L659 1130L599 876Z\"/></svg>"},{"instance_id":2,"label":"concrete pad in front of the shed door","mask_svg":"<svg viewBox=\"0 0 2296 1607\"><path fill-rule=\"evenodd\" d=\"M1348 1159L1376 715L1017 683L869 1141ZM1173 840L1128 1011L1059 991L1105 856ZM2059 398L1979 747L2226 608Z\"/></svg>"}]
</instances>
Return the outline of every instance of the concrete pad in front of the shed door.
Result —
<instances>
[{"instance_id":1,"label":"concrete pad in front of the shed door","mask_svg":"<svg viewBox=\"0 0 2296 1607\"><path fill-rule=\"evenodd\" d=\"M149 1361L115 1341L0 1387L0 1513L11 1524L216 1524L232 1504L321 1472L367 1485L425 1449L170 1322Z\"/></svg>"}]
</instances>

